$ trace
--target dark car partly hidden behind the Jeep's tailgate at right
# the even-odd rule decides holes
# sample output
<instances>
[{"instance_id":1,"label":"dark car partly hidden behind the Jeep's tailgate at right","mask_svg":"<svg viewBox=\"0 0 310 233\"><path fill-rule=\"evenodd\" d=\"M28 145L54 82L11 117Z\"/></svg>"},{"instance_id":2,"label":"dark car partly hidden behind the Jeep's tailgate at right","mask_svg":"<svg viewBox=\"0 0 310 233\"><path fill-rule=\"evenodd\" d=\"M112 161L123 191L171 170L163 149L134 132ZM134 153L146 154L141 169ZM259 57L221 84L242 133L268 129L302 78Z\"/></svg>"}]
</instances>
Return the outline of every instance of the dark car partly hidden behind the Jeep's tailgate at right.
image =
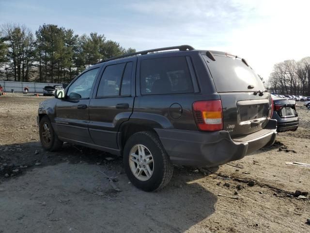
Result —
<instances>
[{"instance_id":1,"label":"dark car partly hidden behind the Jeep's tailgate at right","mask_svg":"<svg viewBox=\"0 0 310 233\"><path fill-rule=\"evenodd\" d=\"M296 131L299 118L296 111L296 100L288 100L272 95L273 114L272 119L277 120L277 131Z\"/></svg>"}]
</instances>

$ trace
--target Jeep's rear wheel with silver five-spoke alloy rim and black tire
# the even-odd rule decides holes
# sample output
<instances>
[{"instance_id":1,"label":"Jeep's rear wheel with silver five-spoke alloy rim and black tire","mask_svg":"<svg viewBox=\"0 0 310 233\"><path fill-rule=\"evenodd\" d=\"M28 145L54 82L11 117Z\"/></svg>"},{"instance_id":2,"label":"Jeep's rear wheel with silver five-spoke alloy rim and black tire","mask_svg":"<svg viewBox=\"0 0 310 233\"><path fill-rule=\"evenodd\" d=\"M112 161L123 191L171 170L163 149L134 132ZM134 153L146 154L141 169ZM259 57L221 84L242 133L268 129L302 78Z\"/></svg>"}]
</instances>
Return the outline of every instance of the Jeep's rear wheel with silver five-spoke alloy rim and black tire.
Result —
<instances>
[{"instance_id":1,"label":"Jeep's rear wheel with silver five-spoke alloy rim and black tire","mask_svg":"<svg viewBox=\"0 0 310 233\"><path fill-rule=\"evenodd\" d=\"M124 169L137 188L151 192L166 186L173 166L156 133L135 133L124 147Z\"/></svg>"}]
</instances>

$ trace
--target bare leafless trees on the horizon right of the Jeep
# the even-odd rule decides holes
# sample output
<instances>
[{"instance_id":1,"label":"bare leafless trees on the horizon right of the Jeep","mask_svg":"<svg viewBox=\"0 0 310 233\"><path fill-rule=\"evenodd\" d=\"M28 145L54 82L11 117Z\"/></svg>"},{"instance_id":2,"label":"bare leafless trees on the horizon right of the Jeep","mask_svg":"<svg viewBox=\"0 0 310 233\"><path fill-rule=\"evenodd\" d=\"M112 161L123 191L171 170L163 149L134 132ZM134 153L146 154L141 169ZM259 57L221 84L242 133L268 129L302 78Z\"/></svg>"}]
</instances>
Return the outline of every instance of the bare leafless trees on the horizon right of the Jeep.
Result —
<instances>
[{"instance_id":1,"label":"bare leafless trees on the horizon right of the Jeep","mask_svg":"<svg viewBox=\"0 0 310 233\"><path fill-rule=\"evenodd\" d=\"M286 60L274 65L268 80L271 92L310 96L310 57Z\"/></svg>"}]
</instances>

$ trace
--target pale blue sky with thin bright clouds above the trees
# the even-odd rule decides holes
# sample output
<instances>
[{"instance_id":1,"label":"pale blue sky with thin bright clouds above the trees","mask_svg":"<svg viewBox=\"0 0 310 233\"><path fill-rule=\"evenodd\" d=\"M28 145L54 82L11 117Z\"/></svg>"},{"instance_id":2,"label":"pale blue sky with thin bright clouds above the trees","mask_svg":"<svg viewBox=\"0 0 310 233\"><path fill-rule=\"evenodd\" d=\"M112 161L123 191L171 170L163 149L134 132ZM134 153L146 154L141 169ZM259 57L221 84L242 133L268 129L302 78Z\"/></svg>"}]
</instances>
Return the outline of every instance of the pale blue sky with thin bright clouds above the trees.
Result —
<instances>
[{"instance_id":1,"label":"pale blue sky with thin bright clouds above the trees","mask_svg":"<svg viewBox=\"0 0 310 233\"><path fill-rule=\"evenodd\" d=\"M310 56L309 9L309 0L0 0L0 25L57 24L136 50L227 51L267 80L274 64Z\"/></svg>"}]
</instances>

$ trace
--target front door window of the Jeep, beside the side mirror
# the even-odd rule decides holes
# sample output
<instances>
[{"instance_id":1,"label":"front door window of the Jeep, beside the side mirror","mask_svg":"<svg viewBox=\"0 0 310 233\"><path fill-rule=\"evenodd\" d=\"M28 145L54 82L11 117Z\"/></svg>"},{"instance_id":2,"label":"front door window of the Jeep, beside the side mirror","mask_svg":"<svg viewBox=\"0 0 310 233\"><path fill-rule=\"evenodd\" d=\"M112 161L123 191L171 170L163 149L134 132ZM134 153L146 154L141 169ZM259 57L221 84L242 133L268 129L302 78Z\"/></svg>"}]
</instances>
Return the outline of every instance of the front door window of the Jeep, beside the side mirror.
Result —
<instances>
[{"instance_id":1,"label":"front door window of the Jeep, beside the side mirror","mask_svg":"<svg viewBox=\"0 0 310 233\"><path fill-rule=\"evenodd\" d=\"M83 73L78 77L74 83L72 83L68 89L67 96L69 99L85 99L89 98L93 81L99 71L99 68L95 68Z\"/></svg>"}]
</instances>

